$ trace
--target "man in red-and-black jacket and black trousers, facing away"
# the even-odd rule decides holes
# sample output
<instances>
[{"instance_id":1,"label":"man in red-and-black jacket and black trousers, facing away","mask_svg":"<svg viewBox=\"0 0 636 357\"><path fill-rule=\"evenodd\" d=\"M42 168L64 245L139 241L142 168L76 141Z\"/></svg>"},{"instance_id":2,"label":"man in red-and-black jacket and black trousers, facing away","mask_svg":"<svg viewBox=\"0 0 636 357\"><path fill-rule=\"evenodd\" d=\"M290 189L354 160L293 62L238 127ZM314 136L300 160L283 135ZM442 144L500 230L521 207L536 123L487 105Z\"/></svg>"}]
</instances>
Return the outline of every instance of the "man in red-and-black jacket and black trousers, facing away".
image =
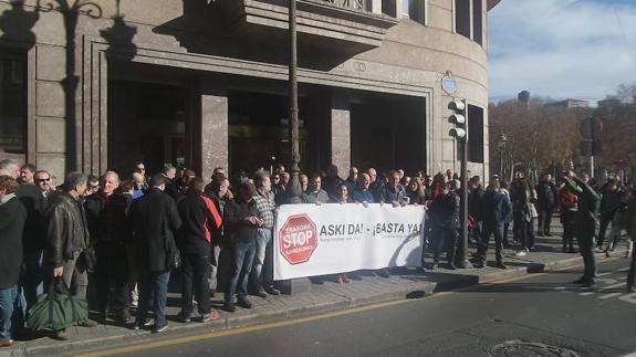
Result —
<instances>
[{"instance_id":1,"label":"man in red-and-black jacket and black trousers, facing away","mask_svg":"<svg viewBox=\"0 0 636 357\"><path fill-rule=\"evenodd\" d=\"M195 177L188 182L188 192L179 201L179 217L183 224L179 230L178 245L183 259L181 312L179 319L190 322L192 314L192 288L198 302L201 322L218 319L219 313L210 308L210 262L212 254L212 232L221 228L221 214L215 202L204 193L204 180Z\"/></svg>"}]
</instances>

